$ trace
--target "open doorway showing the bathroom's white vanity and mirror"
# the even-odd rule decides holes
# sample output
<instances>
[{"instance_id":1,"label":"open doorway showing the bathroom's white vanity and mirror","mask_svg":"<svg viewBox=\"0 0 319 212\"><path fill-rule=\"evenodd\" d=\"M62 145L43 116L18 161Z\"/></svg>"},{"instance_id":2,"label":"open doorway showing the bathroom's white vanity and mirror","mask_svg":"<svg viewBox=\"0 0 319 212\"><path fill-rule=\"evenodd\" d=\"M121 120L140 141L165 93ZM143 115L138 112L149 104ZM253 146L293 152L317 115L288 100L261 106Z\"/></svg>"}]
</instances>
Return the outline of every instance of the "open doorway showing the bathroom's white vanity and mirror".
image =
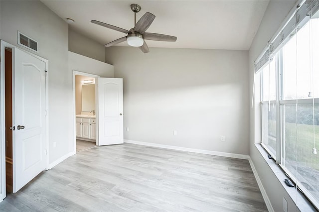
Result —
<instances>
[{"instance_id":1,"label":"open doorway showing the bathroom's white vanity and mirror","mask_svg":"<svg viewBox=\"0 0 319 212\"><path fill-rule=\"evenodd\" d=\"M76 153L96 147L96 77L74 71Z\"/></svg>"}]
</instances>

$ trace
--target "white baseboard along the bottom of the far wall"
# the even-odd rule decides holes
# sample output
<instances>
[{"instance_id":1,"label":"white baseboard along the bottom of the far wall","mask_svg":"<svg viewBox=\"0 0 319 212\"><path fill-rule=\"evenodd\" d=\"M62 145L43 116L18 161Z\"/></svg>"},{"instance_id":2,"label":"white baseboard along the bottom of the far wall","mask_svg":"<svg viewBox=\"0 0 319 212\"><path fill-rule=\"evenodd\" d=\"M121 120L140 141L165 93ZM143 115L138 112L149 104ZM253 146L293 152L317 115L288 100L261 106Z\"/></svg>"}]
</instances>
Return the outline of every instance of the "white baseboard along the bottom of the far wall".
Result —
<instances>
[{"instance_id":1,"label":"white baseboard along the bottom of the far wall","mask_svg":"<svg viewBox=\"0 0 319 212\"><path fill-rule=\"evenodd\" d=\"M157 143L148 143L143 141L134 141L134 140L124 140L124 143L132 143L132 144L138 144L143 146L152 146L152 147L159 147L164 149L173 149L173 150L179 150L179 151L186 151L186 152L195 152L195 153L202 153L207 155L217 155L217 156L223 156L223 157L229 157L229 158L238 158L238 159L249 159L249 155L242 155L242 154L234 154L234 153L228 153L228 152L217 152L217 151L210 151L210 150L202 150L202 149L192 149L192 148L185 148L180 146L170 146L170 145L163 145L163 144L157 144Z\"/></svg>"}]
</instances>

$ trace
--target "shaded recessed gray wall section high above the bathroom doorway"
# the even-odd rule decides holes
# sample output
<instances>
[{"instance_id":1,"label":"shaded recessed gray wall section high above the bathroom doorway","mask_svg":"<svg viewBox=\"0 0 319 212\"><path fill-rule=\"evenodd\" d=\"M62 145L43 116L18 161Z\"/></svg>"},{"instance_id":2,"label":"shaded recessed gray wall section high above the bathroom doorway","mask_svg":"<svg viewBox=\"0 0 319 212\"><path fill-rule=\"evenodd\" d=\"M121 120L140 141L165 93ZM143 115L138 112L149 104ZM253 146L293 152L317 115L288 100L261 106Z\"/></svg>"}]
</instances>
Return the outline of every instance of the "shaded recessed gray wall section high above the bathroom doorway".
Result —
<instances>
[{"instance_id":1,"label":"shaded recessed gray wall section high above the bathroom doorway","mask_svg":"<svg viewBox=\"0 0 319 212\"><path fill-rule=\"evenodd\" d=\"M105 62L105 47L69 27L69 51Z\"/></svg>"}]
</instances>

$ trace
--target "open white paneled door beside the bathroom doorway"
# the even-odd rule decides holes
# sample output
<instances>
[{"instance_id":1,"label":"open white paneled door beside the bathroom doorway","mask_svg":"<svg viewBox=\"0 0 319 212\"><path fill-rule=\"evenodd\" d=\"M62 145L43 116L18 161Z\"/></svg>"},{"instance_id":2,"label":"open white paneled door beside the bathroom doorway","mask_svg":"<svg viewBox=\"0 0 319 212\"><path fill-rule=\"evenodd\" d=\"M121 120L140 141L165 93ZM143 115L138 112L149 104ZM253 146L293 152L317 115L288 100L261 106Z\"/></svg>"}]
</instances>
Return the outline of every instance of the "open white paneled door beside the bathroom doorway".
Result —
<instances>
[{"instance_id":1,"label":"open white paneled door beside the bathroom doorway","mask_svg":"<svg viewBox=\"0 0 319 212\"><path fill-rule=\"evenodd\" d=\"M98 145L123 143L123 80L98 78Z\"/></svg>"}]
</instances>

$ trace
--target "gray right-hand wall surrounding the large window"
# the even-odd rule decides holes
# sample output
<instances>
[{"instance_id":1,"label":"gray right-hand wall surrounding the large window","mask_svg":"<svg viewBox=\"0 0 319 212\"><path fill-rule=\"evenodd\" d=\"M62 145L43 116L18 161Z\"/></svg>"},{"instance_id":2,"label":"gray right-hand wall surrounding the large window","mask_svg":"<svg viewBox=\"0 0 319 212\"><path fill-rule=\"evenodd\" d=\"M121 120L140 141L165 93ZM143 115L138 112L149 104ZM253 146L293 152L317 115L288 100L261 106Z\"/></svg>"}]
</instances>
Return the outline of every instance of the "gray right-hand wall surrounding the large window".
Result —
<instances>
[{"instance_id":1,"label":"gray right-hand wall surrounding the large window","mask_svg":"<svg viewBox=\"0 0 319 212\"><path fill-rule=\"evenodd\" d=\"M250 79L250 95L252 93L253 77L254 77L254 61L259 56L267 42L279 29L290 9L296 3L295 0L278 0L270 1L265 12L258 32L252 42L249 50L249 79ZM258 79L256 80L258 81ZM258 88L256 88L258 96ZM250 99L251 101L251 99ZM251 103L251 102L250 102ZM256 98L254 108L250 109L250 157L255 165L261 182L267 192L271 204L275 212L283 211L283 197L288 201L288 211L296 211L296 205L288 196L282 183L275 176L261 153L255 146L255 143L261 141L260 137L260 111L259 99ZM256 114L256 116L255 116ZM280 172L280 171L279 171Z\"/></svg>"}]
</instances>

